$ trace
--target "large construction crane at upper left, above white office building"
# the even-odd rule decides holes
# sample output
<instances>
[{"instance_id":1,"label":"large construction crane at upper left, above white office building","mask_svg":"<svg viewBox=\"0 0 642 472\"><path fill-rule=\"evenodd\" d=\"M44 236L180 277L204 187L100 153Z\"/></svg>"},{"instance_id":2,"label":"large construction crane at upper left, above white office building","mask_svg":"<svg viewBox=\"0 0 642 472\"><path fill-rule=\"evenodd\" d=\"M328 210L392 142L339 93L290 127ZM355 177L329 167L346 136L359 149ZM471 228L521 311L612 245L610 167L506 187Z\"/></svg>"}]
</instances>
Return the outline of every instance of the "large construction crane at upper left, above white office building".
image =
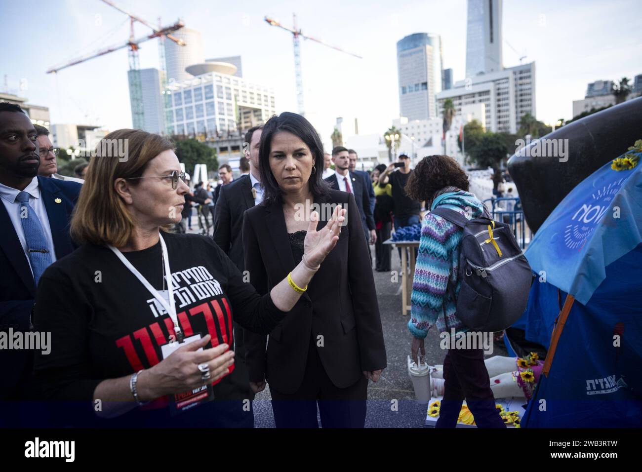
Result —
<instances>
[{"instance_id":1,"label":"large construction crane at upper left, above white office building","mask_svg":"<svg viewBox=\"0 0 642 472\"><path fill-rule=\"evenodd\" d=\"M182 39L179 39L171 33L173 33L176 30L180 30L180 28L183 28L185 24L178 20L172 25L169 26L159 26L156 28L153 26L148 21L145 21L141 17L134 15L125 9L117 6L110 0L101 0L103 3L107 3L109 6L112 6L113 8L116 8L121 13L125 13L130 18L130 34L129 34L129 40L125 42L125 44L118 44L117 46L110 46L109 48L101 49L100 51L93 53L91 55L87 55L84 57L77 58L67 64L64 64L62 66L58 67L52 67L47 71L48 74L51 73L58 73L59 71L62 71L62 69L66 69L67 67L75 66L76 64L80 64L82 62L85 62L87 60L104 56L105 54L112 53L114 51L117 51L119 49L123 48L129 48L128 51L128 59L129 59L129 82L130 82L130 101L132 103L132 122L134 125L134 128L143 128L144 127L144 108L143 108L143 87L141 85L141 71L139 67L139 55L138 55L138 49L139 49L139 44L141 42L145 42L150 39L154 38L167 38L169 40L172 40L179 46L185 46L185 42ZM148 26L148 28L151 28L153 33L150 35L146 35L143 37L135 38L134 37L134 22L139 22L144 24L145 26ZM163 48L164 45L160 44L160 47ZM164 51L161 52L162 59L164 59ZM164 69L164 64L161 64L161 69Z\"/></svg>"}]
</instances>

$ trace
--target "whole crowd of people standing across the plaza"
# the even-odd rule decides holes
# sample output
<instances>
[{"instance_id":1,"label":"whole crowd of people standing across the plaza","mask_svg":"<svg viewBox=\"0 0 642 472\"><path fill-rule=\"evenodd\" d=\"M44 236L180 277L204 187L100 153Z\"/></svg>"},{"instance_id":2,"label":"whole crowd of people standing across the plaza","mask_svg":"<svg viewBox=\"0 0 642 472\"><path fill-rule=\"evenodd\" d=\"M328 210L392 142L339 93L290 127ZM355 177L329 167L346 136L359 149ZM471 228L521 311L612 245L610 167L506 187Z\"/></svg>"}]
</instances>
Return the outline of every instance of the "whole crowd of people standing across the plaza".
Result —
<instances>
[{"instance_id":1,"label":"whole crowd of people standing across the plaza","mask_svg":"<svg viewBox=\"0 0 642 472\"><path fill-rule=\"evenodd\" d=\"M0 324L51 333L49 353L0 350L10 425L252 427L269 384L277 427L317 427L317 406L323 427L363 427L387 366L370 245L389 271L383 242L423 205L484 211L454 159L357 171L354 150L324 153L290 112L248 130L241 176L224 164L215 188L187 185L166 137L128 129L105 137L126 140L127 159L98 146L83 180L62 177L43 129L0 103ZM187 234L192 203L202 234ZM423 217L413 358L431 327L465 329L446 289L458 238ZM438 426L464 398L480 426L504 426L482 351L449 351L444 379Z\"/></svg>"}]
</instances>

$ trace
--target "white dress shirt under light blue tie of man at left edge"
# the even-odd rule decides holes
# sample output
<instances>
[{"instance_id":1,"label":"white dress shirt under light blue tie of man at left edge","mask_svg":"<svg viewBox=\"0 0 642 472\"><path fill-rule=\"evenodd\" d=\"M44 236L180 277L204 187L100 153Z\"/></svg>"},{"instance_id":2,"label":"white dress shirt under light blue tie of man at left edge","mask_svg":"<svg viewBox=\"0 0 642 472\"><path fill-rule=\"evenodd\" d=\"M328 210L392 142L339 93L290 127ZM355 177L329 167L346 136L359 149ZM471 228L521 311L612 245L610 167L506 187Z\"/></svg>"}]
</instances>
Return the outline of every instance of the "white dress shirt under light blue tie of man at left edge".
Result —
<instances>
[{"instance_id":1,"label":"white dress shirt under light blue tie of man at left edge","mask_svg":"<svg viewBox=\"0 0 642 472\"><path fill-rule=\"evenodd\" d=\"M40 225L42 225L42 231L44 231L44 236L49 245L49 255L51 256L51 262L56 261L56 249L53 245L53 238L51 237L51 226L49 225L49 216L47 215L47 209L44 206L42 198L40 198L40 187L38 186L38 177L33 177L33 180L24 188L29 194L29 205L35 210L38 219L40 220ZM31 261L29 259L29 254L27 252L27 239L24 237L24 229L22 229L22 222L20 218L20 202L17 202L15 199L18 197L20 191L18 189L7 187L6 185L0 184L0 200L2 200L4 207L6 208L6 213L9 214L9 218L13 223L13 229L18 235L18 239L22 245L22 250L24 250L24 257L27 258L29 267L31 268ZM33 274L33 270L31 271Z\"/></svg>"}]
</instances>

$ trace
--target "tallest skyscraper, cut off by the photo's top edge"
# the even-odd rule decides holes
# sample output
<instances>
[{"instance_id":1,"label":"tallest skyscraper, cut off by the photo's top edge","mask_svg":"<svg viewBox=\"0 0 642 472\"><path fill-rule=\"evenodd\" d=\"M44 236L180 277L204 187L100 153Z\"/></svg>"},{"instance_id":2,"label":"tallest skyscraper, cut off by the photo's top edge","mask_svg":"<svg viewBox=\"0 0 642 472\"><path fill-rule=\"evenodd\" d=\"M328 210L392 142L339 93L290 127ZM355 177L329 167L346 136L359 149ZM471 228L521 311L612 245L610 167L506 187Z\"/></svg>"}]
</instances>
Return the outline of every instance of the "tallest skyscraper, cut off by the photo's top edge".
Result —
<instances>
[{"instance_id":1,"label":"tallest skyscraper, cut off by the photo's top edge","mask_svg":"<svg viewBox=\"0 0 642 472\"><path fill-rule=\"evenodd\" d=\"M503 69L501 57L502 0L468 0L466 77Z\"/></svg>"}]
</instances>

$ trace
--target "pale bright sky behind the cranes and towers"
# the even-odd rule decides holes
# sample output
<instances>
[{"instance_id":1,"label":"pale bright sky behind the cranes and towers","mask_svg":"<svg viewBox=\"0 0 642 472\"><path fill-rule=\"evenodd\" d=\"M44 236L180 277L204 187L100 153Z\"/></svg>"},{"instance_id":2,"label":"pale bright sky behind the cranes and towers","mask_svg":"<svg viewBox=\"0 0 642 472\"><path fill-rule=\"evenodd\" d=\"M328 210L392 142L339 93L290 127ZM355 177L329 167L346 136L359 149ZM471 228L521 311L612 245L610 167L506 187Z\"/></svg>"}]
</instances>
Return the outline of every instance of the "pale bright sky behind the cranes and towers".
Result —
<instances>
[{"instance_id":1,"label":"pale bright sky behind the cranes and towers","mask_svg":"<svg viewBox=\"0 0 642 472\"><path fill-rule=\"evenodd\" d=\"M329 141L336 117L358 118L360 134L383 134L399 116L396 43L441 35L444 68L465 75L465 0L205 1L114 0L147 21L179 17L203 35L205 58L241 55L243 77L275 89L277 113L296 111L292 13L302 32L347 51L303 41L306 116ZM51 123L131 127L126 49L58 74L46 70L100 48L123 44L128 17L100 0L0 0L0 91L49 107ZM572 101L594 80L642 73L639 0L504 0L505 67L535 61L535 114L544 122L572 118ZM135 25L135 36L150 30ZM158 40L141 44L141 68L159 67ZM5 87L5 82L8 87Z\"/></svg>"}]
</instances>

